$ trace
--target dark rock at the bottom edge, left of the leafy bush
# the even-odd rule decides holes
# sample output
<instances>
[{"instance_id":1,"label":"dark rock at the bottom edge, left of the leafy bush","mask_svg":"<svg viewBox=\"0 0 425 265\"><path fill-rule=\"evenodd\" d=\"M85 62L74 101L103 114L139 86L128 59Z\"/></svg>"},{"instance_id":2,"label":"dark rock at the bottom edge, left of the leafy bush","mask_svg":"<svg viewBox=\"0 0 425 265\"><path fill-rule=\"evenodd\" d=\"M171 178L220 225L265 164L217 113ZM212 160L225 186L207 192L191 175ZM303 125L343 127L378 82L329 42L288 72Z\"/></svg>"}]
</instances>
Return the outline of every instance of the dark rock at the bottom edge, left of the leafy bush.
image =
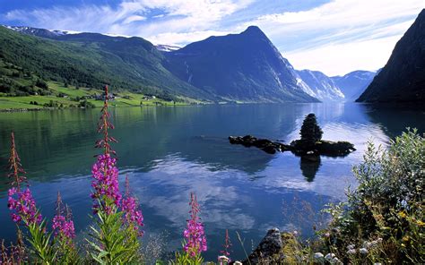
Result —
<instances>
[{"instance_id":1,"label":"dark rock at the bottom edge, left of the leafy bush","mask_svg":"<svg viewBox=\"0 0 425 265\"><path fill-rule=\"evenodd\" d=\"M260 244L258 244L256 250L248 256L248 260L251 264L258 264L259 261L271 261L273 256L279 255L282 247L283 242L281 231L279 231L278 228L272 228L267 232L267 235L265 235L265 238L263 238ZM242 263L249 264L248 260L245 260Z\"/></svg>"}]
</instances>

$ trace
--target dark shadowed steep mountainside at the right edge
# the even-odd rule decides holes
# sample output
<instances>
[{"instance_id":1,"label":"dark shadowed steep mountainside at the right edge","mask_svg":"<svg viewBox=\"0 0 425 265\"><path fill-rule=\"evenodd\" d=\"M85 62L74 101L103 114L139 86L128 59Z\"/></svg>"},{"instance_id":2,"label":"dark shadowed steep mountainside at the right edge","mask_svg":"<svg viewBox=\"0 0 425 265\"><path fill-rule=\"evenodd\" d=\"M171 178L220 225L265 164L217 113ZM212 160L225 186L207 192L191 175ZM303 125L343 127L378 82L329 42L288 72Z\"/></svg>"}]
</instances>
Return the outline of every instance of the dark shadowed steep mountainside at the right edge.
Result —
<instances>
[{"instance_id":1,"label":"dark shadowed steep mountainside at the right edge","mask_svg":"<svg viewBox=\"0 0 425 265\"><path fill-rule=\"evenodd\" d=\"M359 102L425 102L425 9L397 42Z\"/></svg>"}]
</instances>

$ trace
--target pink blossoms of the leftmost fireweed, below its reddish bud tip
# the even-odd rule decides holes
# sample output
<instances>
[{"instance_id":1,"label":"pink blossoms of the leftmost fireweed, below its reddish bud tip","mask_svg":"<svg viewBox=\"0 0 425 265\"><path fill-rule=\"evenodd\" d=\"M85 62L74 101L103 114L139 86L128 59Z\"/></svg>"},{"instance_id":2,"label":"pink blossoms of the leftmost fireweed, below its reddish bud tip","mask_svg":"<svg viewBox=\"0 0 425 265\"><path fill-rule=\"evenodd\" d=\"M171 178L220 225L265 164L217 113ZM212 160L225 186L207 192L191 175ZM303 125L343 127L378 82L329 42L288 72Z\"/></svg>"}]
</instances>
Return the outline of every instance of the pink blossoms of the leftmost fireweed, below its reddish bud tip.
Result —
<instances>
[{"instance_id":1,"label":"pink blossoms of the leftmost fireweed, below its reddish bud tip","mask_svg":"<svg viewBox=\"0 0 425 265\"><path fill-rule=\"evenodd\" d=\"M37 213L37 207L29 188L23 192L18 191L17 188L11 188L7 195L7 207L13 210L11 214L13 222L24 226L41 223L42 217Z\"/></svg>"}]
</instances>

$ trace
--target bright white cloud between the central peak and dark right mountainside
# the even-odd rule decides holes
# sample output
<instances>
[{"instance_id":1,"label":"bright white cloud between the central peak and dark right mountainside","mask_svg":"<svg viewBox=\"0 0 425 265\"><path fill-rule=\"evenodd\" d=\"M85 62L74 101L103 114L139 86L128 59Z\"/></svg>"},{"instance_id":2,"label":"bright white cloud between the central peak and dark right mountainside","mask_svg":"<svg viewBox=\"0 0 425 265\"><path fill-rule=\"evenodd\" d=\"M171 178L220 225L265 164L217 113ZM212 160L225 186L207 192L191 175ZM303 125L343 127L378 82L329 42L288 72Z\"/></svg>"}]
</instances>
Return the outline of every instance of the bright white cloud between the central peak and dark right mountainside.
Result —
<instances>
[{"instance_id":1,"label":"bright white cloud between the central peak and dark right mountainside","mask_svg":"<svg viewBox=\"0 0 425 265\"><path fill-rule=\"evenodd\" d=\"M273 13L260 26L298 69L335 75L376 70L425 6L423 0L334 0L308 11Z\"/></svg>"}]
</instances>

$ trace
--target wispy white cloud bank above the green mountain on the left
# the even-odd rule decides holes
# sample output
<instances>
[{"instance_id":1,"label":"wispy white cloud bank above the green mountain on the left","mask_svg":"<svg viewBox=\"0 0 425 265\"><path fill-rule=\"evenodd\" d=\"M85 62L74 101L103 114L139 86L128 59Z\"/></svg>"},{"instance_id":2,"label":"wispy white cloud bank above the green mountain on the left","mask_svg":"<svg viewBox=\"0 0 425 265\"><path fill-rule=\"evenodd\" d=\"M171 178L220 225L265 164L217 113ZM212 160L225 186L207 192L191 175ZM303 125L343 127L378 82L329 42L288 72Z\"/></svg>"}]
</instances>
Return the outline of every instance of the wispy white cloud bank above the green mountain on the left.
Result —
<instances>
[{"instance_id":1,"label":"wispy white cloud bank above the green mountain on the left","mask_svg":"<svg viewBox=\"0 0 425 265\"><path fill-rule=\"evenodd\" d=\"M204 37L206 32L217 28L224 17L247 7L251 2L252 0L126 0L116 9L109 5L82 5L74 8L55 6L30 12L15 10L6 13L4 17L8 21L21 21L33 27L47 29L114 33L159 40L163 36L164 40L168 40L172 34ZM153 14L152 10L160 13ZM188 41L190 40L192 39Z\"/></svg>"}]
</instances>

